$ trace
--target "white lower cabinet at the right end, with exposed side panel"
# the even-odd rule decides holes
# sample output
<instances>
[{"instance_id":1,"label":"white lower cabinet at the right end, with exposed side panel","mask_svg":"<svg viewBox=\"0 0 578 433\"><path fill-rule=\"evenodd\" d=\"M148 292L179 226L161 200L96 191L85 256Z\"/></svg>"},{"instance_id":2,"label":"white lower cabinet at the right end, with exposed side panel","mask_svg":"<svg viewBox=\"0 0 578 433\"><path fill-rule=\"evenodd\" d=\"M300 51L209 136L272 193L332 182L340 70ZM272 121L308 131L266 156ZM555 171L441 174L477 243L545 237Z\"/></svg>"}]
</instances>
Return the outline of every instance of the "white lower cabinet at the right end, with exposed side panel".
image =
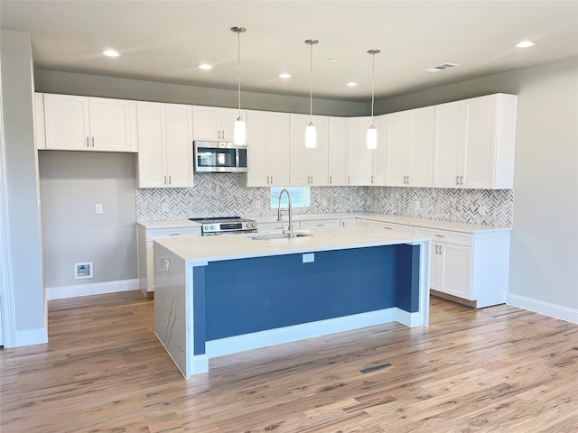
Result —
<instances>
[{"instance_id":1,"label":"white lower cabinet at the right end, with exposed side panel","mask_svg":"<svg viewBox=\"0 0 578 433\"><path fill-rule=\"evenodd\" d=\"M475 302L476 308L506 302L509 230L453 232L414 227L432 238L430 288Z\"/></svg>"}]
</instances>

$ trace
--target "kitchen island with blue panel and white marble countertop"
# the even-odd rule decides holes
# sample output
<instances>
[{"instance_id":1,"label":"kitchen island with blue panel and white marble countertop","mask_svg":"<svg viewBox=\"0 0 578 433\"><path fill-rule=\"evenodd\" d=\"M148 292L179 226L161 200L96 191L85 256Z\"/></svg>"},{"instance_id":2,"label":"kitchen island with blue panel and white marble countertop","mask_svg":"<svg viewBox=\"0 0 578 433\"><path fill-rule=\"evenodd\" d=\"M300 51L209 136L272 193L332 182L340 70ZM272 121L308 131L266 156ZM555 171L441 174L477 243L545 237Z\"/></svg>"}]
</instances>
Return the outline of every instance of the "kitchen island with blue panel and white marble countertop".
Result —
<instances>
[{"instance_id":1,"label":"kitchen island with blue panel and white marble countertop","mask_svg":"<svg viewBox=\"0 0 578 433\"><path fill-rule=\"evenodd\" d=\"M427 325L428 238L305 232L154 241L154 332L186 378L214 356L391 321Z\"/></svg>"}]
</instances>

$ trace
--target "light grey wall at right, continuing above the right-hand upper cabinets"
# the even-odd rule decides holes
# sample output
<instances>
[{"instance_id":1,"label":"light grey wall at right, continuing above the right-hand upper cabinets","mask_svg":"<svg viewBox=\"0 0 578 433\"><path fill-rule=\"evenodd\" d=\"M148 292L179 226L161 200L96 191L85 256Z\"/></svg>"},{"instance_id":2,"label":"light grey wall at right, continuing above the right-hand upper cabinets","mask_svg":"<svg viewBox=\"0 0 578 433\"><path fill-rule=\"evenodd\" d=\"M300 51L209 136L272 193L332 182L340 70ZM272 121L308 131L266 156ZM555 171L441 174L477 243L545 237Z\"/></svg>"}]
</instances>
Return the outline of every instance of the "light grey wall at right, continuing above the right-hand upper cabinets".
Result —
<instances>
[{"instance_id":1,"label":"light grey wall at right, continuing above the right-hand upper cabinets","mask_svg":"<svg viewBox=\"0 0 578 433\"><path fill-rule=\"evenodd\" d=\"M518 96L508 303L578 322L578 59L379 101L379 112Z\"/></svg>"}]
</instances>

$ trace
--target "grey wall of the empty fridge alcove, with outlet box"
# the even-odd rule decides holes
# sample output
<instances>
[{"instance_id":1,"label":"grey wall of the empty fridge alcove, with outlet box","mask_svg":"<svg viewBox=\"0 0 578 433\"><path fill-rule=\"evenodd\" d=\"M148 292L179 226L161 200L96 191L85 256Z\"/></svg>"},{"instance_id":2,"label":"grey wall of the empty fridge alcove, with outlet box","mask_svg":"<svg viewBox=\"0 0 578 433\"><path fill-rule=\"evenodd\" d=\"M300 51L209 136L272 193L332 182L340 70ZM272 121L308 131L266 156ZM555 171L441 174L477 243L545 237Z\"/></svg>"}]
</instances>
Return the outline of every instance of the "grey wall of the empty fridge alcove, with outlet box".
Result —
<instances>
[{"instance_id":1,"label":"grey wall of the empty fridge alcove, with outlet box","mask_svg":"<svg viewBox=\"0 0 578 433\"><path fill-rule=\"evenodd\" d=\"M135 153L40 151L44 285L138 278ZM95 204L102 204L97 215ZM74 279L92 262L93 278Z\"/></svg>"}]
</instances>

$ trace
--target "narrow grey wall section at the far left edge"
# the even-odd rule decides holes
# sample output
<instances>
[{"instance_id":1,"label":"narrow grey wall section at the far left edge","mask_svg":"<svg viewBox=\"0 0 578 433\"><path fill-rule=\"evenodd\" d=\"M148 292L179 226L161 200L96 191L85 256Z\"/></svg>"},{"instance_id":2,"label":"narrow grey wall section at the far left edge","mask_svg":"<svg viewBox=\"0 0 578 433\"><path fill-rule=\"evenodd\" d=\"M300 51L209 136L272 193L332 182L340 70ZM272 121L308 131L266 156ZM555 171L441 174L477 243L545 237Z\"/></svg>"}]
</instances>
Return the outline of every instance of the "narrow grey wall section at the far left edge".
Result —
<instances>
[{"instance_id":1,"label":"narrow grey wall section at the far left edge","mask_svg":"<svg viewBox=\"0 0 578 433\"><path fill-rule=\"evenodd\" d=\"M12 317L8 318L13 321L14 333L5 336L5 345L32 345L47 341L38 161L33 136L32 45L30 35L23 32L3 30L0 40L5 158L2 178L12 276L3 292L9 291L8 298L14 302ZM5 297L2 299L4 302Z\"/></svg>"}]
</instances>

